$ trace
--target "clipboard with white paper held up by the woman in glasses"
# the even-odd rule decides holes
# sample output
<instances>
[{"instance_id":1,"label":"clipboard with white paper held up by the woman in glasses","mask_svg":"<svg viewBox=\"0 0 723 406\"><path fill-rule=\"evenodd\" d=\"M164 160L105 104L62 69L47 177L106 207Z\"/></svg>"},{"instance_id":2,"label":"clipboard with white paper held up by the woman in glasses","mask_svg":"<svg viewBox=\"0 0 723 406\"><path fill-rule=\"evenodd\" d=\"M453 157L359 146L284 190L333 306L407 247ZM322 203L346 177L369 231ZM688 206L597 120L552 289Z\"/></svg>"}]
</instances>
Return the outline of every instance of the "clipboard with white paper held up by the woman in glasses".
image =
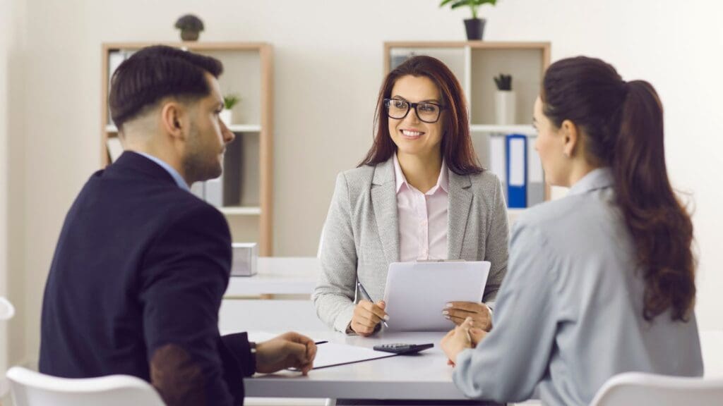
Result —
<instances>
[{"instance_id":1,"label":"clipboard with white paper held up by the woman in glasses","mask_svg":"<svg viewBox=\"0 0 723 406\"><path fill-rule=\"evenodd\" d=\"M389 331L448 331L442 316L451 301L482 302L491 264L474 262L393 262L384 291Z\"/></svg>"}]
</instances>

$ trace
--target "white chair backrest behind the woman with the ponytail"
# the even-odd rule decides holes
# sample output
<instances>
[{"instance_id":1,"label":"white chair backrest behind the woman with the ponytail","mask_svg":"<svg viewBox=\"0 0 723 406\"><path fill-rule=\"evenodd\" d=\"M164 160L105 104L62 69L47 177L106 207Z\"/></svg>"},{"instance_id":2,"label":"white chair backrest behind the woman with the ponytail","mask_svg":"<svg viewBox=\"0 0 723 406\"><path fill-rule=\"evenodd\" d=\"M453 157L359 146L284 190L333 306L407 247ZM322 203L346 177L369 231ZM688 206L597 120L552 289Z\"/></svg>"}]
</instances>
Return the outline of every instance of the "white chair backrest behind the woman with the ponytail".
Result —
<instances>
[{"instance_id":1,"label":"white chair backrest behind the woman with the ponytail","mask_svg":"<svg viewBox=\"0 0 723 406\"><path fill-rule=\"evenodd\" d=\"M608 379L590 406L723 405L723 379L627 372Z\"/></svg>"}]
</instances>

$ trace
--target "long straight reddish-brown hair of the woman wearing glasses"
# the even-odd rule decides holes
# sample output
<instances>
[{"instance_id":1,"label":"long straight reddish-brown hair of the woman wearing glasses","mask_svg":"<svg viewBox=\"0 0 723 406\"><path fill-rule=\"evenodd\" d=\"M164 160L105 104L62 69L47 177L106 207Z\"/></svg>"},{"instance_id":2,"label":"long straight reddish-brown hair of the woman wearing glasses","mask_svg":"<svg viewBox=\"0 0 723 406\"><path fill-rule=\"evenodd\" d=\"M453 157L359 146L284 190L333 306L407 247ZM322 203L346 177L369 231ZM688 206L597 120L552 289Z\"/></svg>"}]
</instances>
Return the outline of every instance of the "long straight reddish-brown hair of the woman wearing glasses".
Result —
<instances>
[{"instance_id":1,"label":"long straight reddish-brown hair of the woman wearing glasses","mask_svg":"<svg viewBox=\"0 0 723 406\"><path fill-rule=\"evenodd\" d=\"M472 139L469 135L469 118L462 87L450 69L439 59L432 56L414 56L407 59L392 72L389 72L382 83L377 98L375 127L377 128L374 144L367 152L367 157L359 163L377 165L387 161L397 150L389 134L389 117L384 108L384 99L390 98L392 88L400 77L411 75L427 77L437 85L442 94L442 105L445 119L442 122L442 157L448 168L458 175L469 175L482 172L482 166L474 153Z\"/></svg>"}]
</instances>

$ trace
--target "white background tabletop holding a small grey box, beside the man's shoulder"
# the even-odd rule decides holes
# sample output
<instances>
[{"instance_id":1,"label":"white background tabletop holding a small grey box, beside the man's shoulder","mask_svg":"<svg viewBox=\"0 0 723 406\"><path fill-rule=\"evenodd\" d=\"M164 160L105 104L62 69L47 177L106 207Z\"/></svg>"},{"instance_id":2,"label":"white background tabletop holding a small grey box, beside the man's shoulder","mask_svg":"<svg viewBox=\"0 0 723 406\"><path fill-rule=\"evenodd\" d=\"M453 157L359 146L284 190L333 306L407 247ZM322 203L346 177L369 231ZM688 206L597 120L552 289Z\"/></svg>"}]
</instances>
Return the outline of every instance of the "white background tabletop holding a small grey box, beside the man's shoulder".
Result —
<instances>
[{"instance_id":1,"label":"white background tabletop holding a small grey box, beside the man's shoulder","mask_svg":"<svg viewBox=\"0 0 723 406\"><path fill-rule=\"evenodd\" d=\"M321 269L319 259L315 256L260 256L257 266L257 275L231 277L224 298L311 295Z\"/></svg>"}]
</instances>

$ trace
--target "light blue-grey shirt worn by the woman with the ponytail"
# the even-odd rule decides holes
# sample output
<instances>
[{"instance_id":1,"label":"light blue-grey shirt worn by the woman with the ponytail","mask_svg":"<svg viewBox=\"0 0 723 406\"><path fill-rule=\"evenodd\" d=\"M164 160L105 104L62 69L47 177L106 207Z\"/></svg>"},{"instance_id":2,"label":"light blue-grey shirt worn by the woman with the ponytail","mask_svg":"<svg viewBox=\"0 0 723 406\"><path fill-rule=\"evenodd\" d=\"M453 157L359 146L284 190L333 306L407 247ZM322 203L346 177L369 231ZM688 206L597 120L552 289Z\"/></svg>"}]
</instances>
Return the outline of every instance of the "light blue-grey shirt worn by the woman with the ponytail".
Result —
<instances>
[{"instance_id":1,"label":"light blue-grey shirt worn by the woman with the ponytail","mask_svg":"<svg viewBox=\"0 0 723 406\"><path fill-rule=\"evenodd\" d=\"M495 328L457 356L468 397L518 402L539 386L543 405L589 405L617 373L703 375L694 314L643 319L645 282L612 185L596 169L515 222Z\"/></svg>"}]
</instances>

